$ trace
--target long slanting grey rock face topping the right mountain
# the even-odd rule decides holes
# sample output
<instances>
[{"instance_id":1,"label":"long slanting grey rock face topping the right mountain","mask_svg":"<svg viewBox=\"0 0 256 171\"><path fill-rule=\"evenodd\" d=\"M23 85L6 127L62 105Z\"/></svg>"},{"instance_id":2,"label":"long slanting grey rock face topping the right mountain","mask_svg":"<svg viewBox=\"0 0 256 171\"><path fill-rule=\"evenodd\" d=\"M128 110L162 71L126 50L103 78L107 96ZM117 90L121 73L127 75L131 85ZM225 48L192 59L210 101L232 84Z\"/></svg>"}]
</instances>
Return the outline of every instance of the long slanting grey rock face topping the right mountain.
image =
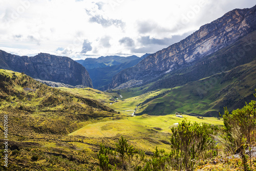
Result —
<instances>
[{"instance_id":1,"label":"long slanting grey rock face topping the right mountain","mask_svg":"<svg viewBox=\"0 0 256 171\"><path fill-rule=\"evenodd\" d=\"M145 81L155 78L233 44L256 30L255 11L256 6L226 13L177 44L147 56L136 66L121 71L113 77L108 88L116 88L129 80Z\"/></svg>"}]
</instances>

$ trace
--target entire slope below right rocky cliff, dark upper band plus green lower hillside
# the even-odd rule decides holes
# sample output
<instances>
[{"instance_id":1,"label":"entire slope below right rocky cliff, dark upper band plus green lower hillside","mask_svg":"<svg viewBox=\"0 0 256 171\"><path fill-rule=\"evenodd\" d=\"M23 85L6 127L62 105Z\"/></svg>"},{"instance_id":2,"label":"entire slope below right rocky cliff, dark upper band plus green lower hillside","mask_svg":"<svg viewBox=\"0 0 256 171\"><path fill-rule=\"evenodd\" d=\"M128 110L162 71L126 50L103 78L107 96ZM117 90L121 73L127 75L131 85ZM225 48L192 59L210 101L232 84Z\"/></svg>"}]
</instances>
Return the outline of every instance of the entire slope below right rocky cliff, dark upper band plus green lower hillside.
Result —
<instances>
[{"instance_id":1,"label":"entire slope below right rocky cliff, dark upper band plus green lower hillside","mask_svg":"<svg viewBox=\"0 0 256 171\"><path fill-rule=\"evenodd\" d=\"M256 32L234 44L178 68L143 86L109 90L121 94L111 107L136 115L193 113L218 116L224 106L241 108L253 99L256 65ZM130 112L129 112L130 111Z\"/></svg>"}]
</instances>

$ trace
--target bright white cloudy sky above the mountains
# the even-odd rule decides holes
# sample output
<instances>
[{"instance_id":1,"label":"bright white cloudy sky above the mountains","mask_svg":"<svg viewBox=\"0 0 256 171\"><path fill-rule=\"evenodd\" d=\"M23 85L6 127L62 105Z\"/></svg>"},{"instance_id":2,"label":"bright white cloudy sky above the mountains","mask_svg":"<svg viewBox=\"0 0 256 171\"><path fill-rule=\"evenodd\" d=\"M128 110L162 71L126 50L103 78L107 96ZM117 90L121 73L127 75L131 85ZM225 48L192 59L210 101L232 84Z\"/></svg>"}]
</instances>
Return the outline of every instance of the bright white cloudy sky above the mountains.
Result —
<instances>
[{"instance_id":1,"label":"bright white cloudy sky above the mountains","mask_svg":"<svg viewBox=\"0 0 256 171\"><path fill-rule=\"evenodd\" d=\"M0 0L0 49L73 59L154 53L255 0Z\"/></svg>"}]
</instances>

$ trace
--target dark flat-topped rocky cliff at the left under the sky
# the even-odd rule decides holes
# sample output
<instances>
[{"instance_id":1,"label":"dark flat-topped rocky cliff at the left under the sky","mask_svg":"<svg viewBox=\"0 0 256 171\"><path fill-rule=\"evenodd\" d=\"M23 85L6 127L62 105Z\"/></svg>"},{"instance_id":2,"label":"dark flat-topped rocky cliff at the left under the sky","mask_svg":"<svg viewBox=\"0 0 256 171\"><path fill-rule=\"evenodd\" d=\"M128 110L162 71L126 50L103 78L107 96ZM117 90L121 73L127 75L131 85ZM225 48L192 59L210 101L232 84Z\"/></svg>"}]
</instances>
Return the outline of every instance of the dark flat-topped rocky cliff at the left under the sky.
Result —
<instances>
[{"instance_id":1,"label":"dark flat-topped rocky cliff at the left under the sky","mask_svg":"<svg viewBox=\"0 0 256 171\"><path fill-rule=\"evenodd\" d=\"M24 72L41 80L93 87L88 71L69 57L46 53L33 57L17 56L0 50L0 68Z\"/></svg>"}]
</instances>

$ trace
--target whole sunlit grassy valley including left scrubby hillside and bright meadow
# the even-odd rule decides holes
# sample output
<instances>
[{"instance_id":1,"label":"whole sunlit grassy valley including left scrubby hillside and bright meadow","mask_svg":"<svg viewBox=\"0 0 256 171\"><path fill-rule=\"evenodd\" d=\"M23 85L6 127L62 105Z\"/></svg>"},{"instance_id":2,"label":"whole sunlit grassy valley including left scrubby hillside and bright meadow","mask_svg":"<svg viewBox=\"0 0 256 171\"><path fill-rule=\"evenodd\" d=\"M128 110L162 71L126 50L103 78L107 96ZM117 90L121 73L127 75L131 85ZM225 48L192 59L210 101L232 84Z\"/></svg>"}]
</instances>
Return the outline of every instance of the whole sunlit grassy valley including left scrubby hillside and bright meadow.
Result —
<instances>
[{"instance_id":1,"label":"whole sunlit grassy valley including left scrubby hillside and bright meadow","mask_svg":"<svg viewBox=\"0 0 256 171\"><path fill-rule=\"evenodd\" d=\"M170 128L184 118L223 125L222 118L217 117L131 116L129 110L168 89L131 97L127 90L110 93L92 88L50 88L8 70L0 70L0 76L1 115L8 115L10 120L12 170L94 170L99 145L114 148L121 135L151 155L155 146L169 151Z\"/></svg>"}]
</instances>

